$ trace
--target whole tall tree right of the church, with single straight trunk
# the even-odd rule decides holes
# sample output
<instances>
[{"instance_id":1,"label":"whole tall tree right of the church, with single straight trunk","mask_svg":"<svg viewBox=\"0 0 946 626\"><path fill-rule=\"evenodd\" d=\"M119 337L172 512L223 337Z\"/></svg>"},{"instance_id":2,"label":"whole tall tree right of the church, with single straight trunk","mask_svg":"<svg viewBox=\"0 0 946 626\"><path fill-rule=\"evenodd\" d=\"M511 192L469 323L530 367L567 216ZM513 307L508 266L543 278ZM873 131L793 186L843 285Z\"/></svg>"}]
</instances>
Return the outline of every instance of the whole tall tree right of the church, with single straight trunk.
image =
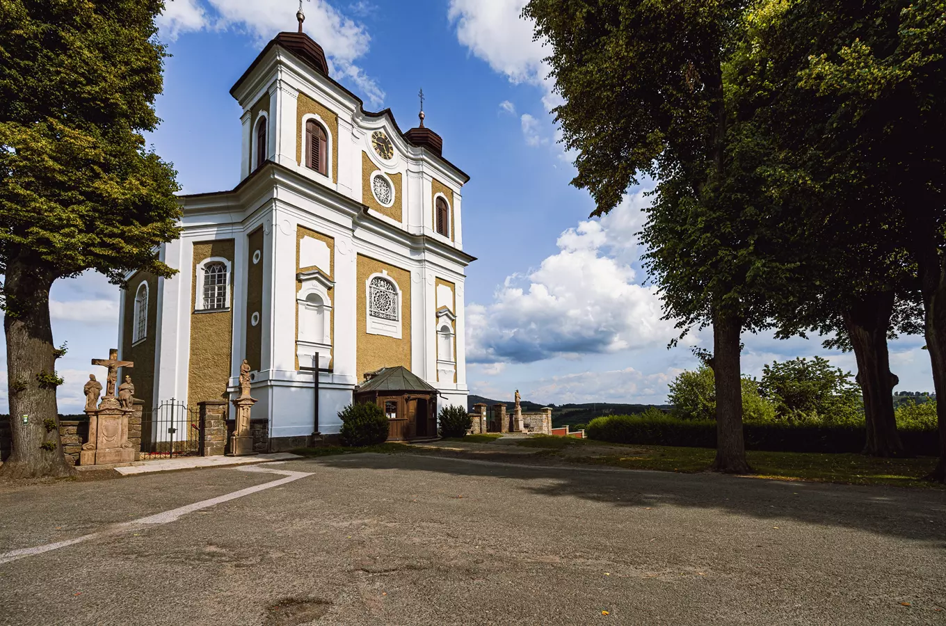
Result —
<instances>
[{"instance_id":1,"label":"whole tall tree right of the church, with single straight trunk","mask_svg":"<svg viewBox=\"0 0 946 626\"><path fill-rule=\"evenodd\" d=\"M745 472L741 334L768 325L790 249L762 194L772 150L727 85L743 0L532 0L524 9L565 104L554 110L578 176L607 213L640 177L657 180L641 238L665 312L712 325L718 447ZM733 99L732 96L737 96ZM791 231L788 231L791 232ZM787 266L794 262L788 260Z\"/></svg>"}]
</instances>

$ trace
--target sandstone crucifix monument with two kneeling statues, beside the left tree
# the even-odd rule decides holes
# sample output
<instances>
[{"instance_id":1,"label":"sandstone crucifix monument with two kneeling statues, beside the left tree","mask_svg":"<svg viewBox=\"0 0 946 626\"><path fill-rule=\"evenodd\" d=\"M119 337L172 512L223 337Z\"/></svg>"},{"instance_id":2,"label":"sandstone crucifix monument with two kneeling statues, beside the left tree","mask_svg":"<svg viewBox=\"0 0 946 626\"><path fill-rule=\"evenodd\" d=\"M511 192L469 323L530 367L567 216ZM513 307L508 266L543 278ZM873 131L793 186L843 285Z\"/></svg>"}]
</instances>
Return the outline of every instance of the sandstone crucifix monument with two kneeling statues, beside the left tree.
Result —
<instances>
[{"instance_id":1,"label":"sandstone crucifix monument with two kneeling statues, beside the left tree","mask_svg":"<svg viewBox=\"0 0 946 626\"><path fill-rule=\"evenodd\" d=\"M132 361L118 360L118 350L109 351L108 358L93 358L93 365L101 365L109 372L106 378L105 396L96 409L94 395L97 397L101 385L95 389L91 383L95 377L90 377L86 383L87 404L85 412L89 416L89 441L82 445L79 453L79 465L111 465L114 463L130 463L134 461L135 450L128 441L128 418L133 410L131 407L131 376L126 376L122 402L115 397L115 386L118 382L118 368L134 367Z\"/></svg>"}]
</instances>

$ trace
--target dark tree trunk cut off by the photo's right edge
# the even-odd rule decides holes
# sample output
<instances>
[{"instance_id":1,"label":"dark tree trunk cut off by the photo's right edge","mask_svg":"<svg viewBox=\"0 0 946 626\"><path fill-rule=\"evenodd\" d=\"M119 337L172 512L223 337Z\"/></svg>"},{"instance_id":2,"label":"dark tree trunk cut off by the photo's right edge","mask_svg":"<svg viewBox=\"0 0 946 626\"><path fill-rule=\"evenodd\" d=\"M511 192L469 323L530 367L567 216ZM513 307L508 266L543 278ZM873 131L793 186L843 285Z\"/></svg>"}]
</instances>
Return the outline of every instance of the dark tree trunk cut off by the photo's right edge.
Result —
<instances>
[{"instance_id":1,"label":"dark tree trunk cut off by the photo's right edge","mask_svg":"<svg viewBox=\"0 0 946 626\"><path fill-rule=\"evenodd\" d=\"M926 348L933 366L933 386L937 392L939 462L928 479L946 482L946 268L938 254L936 262L920 263L920 280L925 312ZM929 257L927 257L929 258Z\"/></svg>"}]
</instances>

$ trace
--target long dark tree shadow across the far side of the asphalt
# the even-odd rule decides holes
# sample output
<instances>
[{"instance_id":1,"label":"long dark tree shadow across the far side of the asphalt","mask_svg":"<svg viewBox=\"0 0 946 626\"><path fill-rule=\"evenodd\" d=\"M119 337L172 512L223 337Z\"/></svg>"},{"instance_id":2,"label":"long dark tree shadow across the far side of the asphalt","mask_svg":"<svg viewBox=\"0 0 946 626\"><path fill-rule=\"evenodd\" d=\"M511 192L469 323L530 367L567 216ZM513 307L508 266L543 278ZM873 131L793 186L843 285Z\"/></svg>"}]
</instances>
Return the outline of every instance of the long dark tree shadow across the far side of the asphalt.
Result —
<instances>
[{"instance_id":1,"label":"long dark tree shadow across the far side of the asphalt","mask_svg":"<svg viewBox=\"0 0 946 626\"><path fill-rule=\"evenodd\" d=\"M358 454L317 461L339 469L397 469L456 477L499 478L536 496L577 497L622 508L715 509L758 519L865 530L941 543L946 548L946 491L675 474L644 470L471 461L412 454Z\"/></svg>"}]
</instances>

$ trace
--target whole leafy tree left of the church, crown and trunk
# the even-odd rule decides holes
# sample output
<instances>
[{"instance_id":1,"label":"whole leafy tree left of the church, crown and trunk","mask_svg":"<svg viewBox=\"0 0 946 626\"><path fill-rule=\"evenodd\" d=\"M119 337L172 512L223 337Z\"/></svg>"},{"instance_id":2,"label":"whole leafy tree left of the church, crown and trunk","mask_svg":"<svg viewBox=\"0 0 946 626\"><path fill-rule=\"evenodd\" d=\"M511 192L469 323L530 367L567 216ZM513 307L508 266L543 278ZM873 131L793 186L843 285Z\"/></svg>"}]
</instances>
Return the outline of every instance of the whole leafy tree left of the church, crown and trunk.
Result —
<instances>
[{"instance_id":1,"label":"whole leafy tree left of the church, crown and trunk","mask_svg":"<svg viewBox=\"0 0 946 626\"><path fill-rule=\"evenodd\" d=\"M162 0L0 0L0 271L13 450L0 473L61 476L49 289L85 270L173 273L173 168L159 122Z\"/></svg>"}]
</instances>

